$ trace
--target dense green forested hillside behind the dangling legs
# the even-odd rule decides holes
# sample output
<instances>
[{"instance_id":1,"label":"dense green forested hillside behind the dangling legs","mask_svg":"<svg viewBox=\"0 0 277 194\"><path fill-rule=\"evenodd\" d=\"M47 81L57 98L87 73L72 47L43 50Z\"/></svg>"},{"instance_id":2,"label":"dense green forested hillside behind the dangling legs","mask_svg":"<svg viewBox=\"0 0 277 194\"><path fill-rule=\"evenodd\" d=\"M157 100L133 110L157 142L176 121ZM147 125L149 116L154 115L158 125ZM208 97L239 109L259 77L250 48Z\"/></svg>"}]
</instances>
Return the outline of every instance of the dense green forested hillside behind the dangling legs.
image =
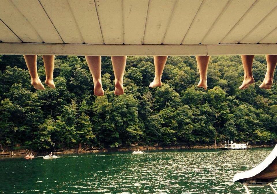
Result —
<instances>
[{"instance_id":1,"label":"dense green forested hillside behind the dangling legs","mask_svg":"<svg viewBox=\"0 0 277 194\"><path fill-rule=\"evenodd\" d=\"M277 84L259 89L266 72L264 56L256 56L256 84L239 90L243 67L239 56L214 56L208 90L196 87L195 57L169 57L163 85L149 89L153 57L128 57L125 93L115 96L110 57L102 57L105 96L93 95L84 57L56 56L56 89L35 91L22 56L0 55L0 144L12 149L52 149L93 145L117 147L139 143L211 144L225 140L275 143ZM40 79L45 79L38 57Z\"/></svg>"}]
</instances>

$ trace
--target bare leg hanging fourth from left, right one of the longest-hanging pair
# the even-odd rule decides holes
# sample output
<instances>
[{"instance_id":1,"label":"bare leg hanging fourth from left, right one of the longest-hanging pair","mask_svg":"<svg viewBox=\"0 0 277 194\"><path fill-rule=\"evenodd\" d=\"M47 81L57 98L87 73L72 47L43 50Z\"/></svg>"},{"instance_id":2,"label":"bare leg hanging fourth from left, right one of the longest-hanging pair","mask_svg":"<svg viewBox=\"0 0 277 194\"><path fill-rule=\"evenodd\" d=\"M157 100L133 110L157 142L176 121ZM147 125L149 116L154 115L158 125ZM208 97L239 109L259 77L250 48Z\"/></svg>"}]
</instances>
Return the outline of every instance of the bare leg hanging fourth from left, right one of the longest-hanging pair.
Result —
<instances>
[{"instance_id":1,"label":"bare leg hanging fourth from left, right one of the longest-hanging pair","mask_svg":"<svg viewBox=\"0 0 277 194\"><path fill-rule=\"evenodd\" d=\"M115 73L115 95L124 94L123 75L126 66L126 56L111 56L113 72Z\"/></svg>"}]
</instances>

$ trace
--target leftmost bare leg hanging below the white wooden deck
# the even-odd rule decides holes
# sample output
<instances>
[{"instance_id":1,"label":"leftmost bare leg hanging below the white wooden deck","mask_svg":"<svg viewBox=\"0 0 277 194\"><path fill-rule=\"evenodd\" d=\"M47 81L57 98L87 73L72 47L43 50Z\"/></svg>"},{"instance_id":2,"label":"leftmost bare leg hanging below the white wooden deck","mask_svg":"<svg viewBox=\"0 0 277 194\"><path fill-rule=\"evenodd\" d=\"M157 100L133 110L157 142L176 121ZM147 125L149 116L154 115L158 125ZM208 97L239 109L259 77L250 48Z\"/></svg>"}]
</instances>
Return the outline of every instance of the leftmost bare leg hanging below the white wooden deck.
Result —
<instances>
[{"instance_id":1,"label":"leftmost bare leg hanging below the white wooden deck","mask_svg":"<svg viewBox=\"0 0 277 194\"><path fill-rule=\"evenodd\" d=\"M45 88L42 85L40 78L38 77L37 55L23 55L23 56L31 76L31 84L37 90L44 90Z\"/></svg>"}]
</instances>

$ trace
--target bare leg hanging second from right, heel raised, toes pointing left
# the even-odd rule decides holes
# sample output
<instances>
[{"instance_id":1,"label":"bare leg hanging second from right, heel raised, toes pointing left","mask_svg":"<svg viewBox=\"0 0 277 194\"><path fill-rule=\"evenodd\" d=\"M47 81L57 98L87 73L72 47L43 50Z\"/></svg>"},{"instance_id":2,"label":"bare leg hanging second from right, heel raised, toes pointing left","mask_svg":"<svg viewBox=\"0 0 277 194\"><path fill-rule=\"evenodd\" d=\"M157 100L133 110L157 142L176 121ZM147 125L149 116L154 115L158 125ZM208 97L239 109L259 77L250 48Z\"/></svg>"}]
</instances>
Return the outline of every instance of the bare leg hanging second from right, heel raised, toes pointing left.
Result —
<instances>
[{"instance_id":1,"label":"bare leg hanging second from right, heel raised, toes pointing left","mask_svg":"<svg viewBox=\"0 0 277 194\"><path fill-rule=\"evenodd\" d=\"M249 88L249 85L255 82L252 74L252 64L254 55L242 55L241 57L244 70L244 80L239 89L244 90Z\"/></svg>"}]
</instances>

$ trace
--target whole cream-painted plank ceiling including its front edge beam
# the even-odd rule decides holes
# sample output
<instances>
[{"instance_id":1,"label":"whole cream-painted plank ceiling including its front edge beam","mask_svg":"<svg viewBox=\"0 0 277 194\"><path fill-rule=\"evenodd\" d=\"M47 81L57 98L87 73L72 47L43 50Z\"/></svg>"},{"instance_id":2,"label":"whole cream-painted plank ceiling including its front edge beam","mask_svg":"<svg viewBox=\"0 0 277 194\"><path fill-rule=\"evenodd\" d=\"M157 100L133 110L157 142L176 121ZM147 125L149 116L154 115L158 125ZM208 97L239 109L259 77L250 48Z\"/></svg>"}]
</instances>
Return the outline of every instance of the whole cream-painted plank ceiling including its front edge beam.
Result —
<instances>
[{"instance_id":1,"label":"whole cream-painted plank ceiling including its front edge beam","mask_svg":"<svg viewBox=\"0 0 277 194\"><path fill-rule=\"evenodd\" d=\"M277 54L276 43L277 0L0 0L2 54Z\"/></svg>"}]
</instances>

